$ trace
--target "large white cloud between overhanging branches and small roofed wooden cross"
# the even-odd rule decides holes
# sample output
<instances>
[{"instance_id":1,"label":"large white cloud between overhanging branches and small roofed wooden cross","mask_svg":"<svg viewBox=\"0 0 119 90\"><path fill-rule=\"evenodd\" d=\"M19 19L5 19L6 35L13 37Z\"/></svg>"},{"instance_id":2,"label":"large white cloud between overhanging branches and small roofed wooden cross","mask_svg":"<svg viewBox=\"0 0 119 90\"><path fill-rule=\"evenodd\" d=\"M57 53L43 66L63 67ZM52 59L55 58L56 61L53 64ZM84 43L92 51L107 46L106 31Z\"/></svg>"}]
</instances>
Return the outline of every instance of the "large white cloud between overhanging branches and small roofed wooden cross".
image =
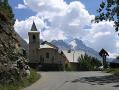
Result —
<instances>
[{"instance_id":1,"label":"large white cloud between overhanging branches and small roofed wooden cross","mask_svg":"<svg viewBox=\"0 0 119 90\"><path fill-rule=\"evenodd\" d=\"M98 51L104 48L110 53L117 52L118 36L115 33L113 22L103 21L92 24L86 38L88 38L88 45Z\"/></svg>"}]
</instances>

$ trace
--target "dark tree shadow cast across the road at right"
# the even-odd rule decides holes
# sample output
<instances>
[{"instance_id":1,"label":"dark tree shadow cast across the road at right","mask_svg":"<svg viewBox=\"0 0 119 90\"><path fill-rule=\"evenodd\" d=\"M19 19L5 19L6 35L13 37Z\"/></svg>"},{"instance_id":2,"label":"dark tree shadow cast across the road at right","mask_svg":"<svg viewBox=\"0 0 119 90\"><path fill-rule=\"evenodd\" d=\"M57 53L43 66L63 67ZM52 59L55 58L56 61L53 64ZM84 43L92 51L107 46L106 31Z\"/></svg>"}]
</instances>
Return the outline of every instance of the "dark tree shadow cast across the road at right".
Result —
<instances>
[{"instance_id":1,"label":"dark tree shadow cast across the road at right","mask_svg":"<svg viewBox=\"0 0 119 90\"><path fill-rule=\"evenodd\" d=\"M119 87L119 76L117 75L108 75L108 76L95 76L95 77L82 77L71 81L72 83L88 83L91 85L106 85L110 83L115 83L117 85L113 87Z\"/></svg>"}]
</instances>

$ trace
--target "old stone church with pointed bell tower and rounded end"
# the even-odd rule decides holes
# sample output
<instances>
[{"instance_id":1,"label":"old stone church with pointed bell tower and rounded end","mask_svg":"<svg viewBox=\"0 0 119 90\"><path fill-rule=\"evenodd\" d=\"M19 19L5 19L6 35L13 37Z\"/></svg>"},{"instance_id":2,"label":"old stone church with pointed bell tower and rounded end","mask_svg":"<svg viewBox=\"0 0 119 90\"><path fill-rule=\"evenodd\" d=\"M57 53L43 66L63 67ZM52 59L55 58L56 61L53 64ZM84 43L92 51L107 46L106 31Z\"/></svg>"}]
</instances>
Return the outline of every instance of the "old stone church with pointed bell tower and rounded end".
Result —
<instances>
[{"instance_id":1,"label":"old stone church with pointed bell tower and rounded end","mask_svg":"<svg viewBox=\"0 0 119 90\"><path fill-rule=\"evenodd\" d=\"M29 36L29 64L40 70L63 70L68 59L62 50L44 41L40 43L40 32L33 22ZM49 37L50 38L50 37Z\"/></svg>"}]
</instances>

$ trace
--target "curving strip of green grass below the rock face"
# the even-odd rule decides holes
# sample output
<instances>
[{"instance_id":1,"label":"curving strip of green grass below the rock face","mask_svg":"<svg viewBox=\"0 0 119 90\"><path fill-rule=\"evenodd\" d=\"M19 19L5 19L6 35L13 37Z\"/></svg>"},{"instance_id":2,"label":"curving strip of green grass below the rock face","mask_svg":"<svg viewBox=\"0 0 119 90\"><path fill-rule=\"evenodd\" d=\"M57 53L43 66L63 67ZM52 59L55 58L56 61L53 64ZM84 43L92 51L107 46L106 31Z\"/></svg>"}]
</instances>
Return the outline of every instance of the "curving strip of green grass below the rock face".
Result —
<instances>
[{"instance_id":1,"label":"curving strip of green grass below the rock face","mask_svg":"<svg viewBox=\"0 0 119 90\"><path fill-rule=\"evenodd\" d=\"M14 84L10 85L0 85L0 90L21 90L27 86L30 86L40 78L40 75L37 74L36 70L31 70L31 75L28 79L23 79Z\"/></svg>"}]
</instances>

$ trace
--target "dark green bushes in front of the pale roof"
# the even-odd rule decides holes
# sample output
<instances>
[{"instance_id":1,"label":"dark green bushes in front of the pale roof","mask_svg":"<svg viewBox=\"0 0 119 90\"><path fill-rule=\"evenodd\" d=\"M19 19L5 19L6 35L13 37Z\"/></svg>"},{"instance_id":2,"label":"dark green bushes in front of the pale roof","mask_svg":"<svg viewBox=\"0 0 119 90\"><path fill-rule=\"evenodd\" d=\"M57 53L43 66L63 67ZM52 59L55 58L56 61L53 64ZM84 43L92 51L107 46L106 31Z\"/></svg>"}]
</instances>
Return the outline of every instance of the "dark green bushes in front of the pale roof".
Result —
<instances>
[{"instance_id":1,"label":"dark green bushes in front of the pale roof","mask_svg":"<svg viewBox=\"0 0 119 90\"><path fill-rule=\"evenodd\" d=\"M87 54L81 55L78 59L79 70L96 70L97 67L101 66L101 62L94 57L88 56Z\"/></svg>"}]
</instances>

